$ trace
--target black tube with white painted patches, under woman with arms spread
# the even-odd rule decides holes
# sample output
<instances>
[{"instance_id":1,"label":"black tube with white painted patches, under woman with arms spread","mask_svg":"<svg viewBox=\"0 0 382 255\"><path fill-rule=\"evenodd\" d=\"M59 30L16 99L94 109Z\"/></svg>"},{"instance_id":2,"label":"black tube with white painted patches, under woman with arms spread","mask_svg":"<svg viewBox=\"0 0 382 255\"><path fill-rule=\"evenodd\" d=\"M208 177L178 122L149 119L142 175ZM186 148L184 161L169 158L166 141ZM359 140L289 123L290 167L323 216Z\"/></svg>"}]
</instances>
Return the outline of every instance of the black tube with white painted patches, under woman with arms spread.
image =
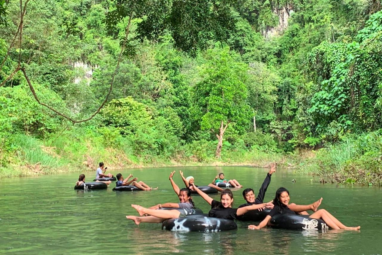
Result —
<instances>
[{"instance_id":1,"label":"black tube with white painted patches, under woman with arms spread","mask_svg":"<svg viewBox=\"0 0 382 255\"><path fill-rule=\"evenodd\" d=\"M213 217L188 216L162 222L162 229L170 231L220 232L237 229L235 221Z\"/></svg>"}]
</instances>

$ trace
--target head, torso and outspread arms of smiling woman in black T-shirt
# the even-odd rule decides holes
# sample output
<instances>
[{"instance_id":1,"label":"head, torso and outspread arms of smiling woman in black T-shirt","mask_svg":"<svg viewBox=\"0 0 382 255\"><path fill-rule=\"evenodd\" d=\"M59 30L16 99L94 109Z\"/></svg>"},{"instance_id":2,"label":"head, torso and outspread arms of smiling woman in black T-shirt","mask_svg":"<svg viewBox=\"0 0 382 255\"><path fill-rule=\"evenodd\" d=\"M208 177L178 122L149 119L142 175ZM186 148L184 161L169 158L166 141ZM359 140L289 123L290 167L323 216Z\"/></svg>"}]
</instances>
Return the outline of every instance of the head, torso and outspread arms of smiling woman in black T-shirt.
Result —
<instances>
[{"instance_id":1,"label":"head, torso and outspread arms of smiling woman in black T-shirt","mask_svg":"<svg viewBox=\"0 0 382 255\"><path fill-rule=\"evenodd\" d=\"M233 194L229 189L225 189L220 193L220 202L214 200L209 195L199 190L195 184L193 184L194 190L211 205L211 210L208 212L209 217L216 217L221 219L236 219L238 216L250 210L257 210L261 208L273 208L272 203L253 204L250 206L243 206L241 208L232 208L233 206Z\"/></svg>"}]
</instances>

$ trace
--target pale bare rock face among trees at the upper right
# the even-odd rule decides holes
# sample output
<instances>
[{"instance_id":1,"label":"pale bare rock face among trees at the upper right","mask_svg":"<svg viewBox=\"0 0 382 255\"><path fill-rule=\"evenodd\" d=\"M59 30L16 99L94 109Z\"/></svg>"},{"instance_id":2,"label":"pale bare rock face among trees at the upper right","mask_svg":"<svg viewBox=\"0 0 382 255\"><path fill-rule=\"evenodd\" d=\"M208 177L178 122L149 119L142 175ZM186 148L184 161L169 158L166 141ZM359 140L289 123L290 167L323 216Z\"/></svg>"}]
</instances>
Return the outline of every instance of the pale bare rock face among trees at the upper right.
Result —
<instances>
[{"instance_id":1,"label":"pale bare rock face among trees at the upper right","mask_svg":"<svg viewBox=\"0 0 382 255\"><path fill-rule=\"evenodd\" d=\"M282 31L284 31L288 27L288 19L290 18L290 15L293 13L293 7L291 4L286 4L282 7L277 7L275 5L272 5L272 10L275 13L275 15L278 16L278 26L277 27L267 26L265 30L261 31L262 35L265 38L275 36L281 33Z\"/></svg>"}]
</instances>

